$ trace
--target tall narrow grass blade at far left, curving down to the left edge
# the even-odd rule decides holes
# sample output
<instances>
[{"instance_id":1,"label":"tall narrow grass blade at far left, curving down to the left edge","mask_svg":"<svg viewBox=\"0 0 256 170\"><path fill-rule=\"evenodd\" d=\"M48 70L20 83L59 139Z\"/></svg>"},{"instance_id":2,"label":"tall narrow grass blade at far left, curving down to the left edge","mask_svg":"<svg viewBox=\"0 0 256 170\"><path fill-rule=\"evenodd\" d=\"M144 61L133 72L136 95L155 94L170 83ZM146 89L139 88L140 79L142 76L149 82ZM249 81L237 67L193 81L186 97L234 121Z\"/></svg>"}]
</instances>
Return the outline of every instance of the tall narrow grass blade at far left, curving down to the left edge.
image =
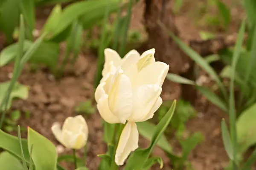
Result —
<instances>
[{"instance_id":1,"label":"tall narrow grass blade at far left, curving down to the left edge","mask_svg":"<svg viewBox=\"0 0 256 170\"><path fill-rule=\"evenodd\" d=\"M18 78L18 72L19 72L19 69L20 69L21 56L23 55L24 40L25 40L24 18L23 18L23 15L20 14L19 46L18 46L16 58L15 58L13 77L11 79L11 83L10 83L10 86L9 86L8 90L7 90L7 92L4 95L5 97L3 98L3 101L0 104L0 109L5 104L5 111L3 112L2 116L1 116L1 120L0 120L0 129L2 128L3 121L4 121L5 116L6 116L6 108L7 108L7 104L8 104L8 101L9 101L10 94L11 94L12 89L13 89L13 87L15 85L15 82L17 81L17 78Z\"/></svg>"}]
</instances>

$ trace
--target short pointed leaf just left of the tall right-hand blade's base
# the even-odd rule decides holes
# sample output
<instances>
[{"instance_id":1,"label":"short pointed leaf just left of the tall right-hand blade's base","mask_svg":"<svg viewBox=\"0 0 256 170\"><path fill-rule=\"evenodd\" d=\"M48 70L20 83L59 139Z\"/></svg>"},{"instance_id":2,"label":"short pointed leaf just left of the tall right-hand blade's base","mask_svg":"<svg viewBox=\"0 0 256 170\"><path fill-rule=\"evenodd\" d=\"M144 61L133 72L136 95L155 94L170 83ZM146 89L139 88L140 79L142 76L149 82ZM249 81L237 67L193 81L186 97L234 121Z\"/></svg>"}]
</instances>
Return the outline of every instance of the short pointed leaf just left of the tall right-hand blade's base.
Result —
<instances>
[{"instance_id":1,"label":"short pointed leaf just left of the tall right-hand blade's base","mask_svg":"<svg viewBox=\"0 0 256 170\"><path fill-rule=\"evenodd\" d=\"M221 121L221 135L222 140L224 143L225 150L227 152L227 156L230 158L230 160L234 160L234 154L233 154L233 144L230 139L230 134L227 129L227 125L224 119Z\"/></svg>"}]
</instances>

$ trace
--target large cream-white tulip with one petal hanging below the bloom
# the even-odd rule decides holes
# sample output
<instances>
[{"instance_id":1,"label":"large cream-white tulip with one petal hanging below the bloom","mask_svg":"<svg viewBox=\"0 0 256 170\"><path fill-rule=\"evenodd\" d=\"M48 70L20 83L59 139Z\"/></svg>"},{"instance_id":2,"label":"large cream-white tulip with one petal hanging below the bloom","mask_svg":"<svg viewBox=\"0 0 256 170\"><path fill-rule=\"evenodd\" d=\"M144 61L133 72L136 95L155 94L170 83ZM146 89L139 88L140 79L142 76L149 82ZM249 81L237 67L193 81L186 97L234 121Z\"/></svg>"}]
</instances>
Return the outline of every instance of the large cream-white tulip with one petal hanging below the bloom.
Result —
<instances>
[{"instance_id":1,"label":"large cream-white tulip with one petal hanging below the bloom","mask_svg":"<svg viewBox=\"0 0 256 170\"><path fill-rule=\"evenodd\" d=\"M129 154L138 148L139 133L135 122L152 118L163 103L160 93L169 65L155 61L155 49L141 56L132 50L122 61L117 59L116 52L109 49L105 50L106 58L106 51L115 55L107 55L95 100L100 115L108 123L125 124L128 121L115 155L116 164L122 165Z\"/></svg>"}]
</instances>

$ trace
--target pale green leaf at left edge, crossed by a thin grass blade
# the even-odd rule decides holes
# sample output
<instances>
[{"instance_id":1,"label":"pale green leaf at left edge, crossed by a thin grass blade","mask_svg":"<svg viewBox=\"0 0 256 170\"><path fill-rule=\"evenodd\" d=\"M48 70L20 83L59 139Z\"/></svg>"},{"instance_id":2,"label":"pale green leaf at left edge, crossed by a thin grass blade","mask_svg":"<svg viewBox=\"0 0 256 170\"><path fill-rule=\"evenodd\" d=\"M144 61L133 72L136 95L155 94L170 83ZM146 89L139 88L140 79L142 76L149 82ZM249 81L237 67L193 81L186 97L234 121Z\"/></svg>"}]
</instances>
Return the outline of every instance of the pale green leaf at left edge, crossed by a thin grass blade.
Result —
<instances>
[{"instance_id":1,"label":"pale green leaf at left edge, crossed by a thin grass blade","mask_svg":"<svg viewBox=\"0 0 256 170\"><path fill-rule=\"evenodd\" d=\"M9 86L10 86L10 81L6 81L4 83L0 84L0 105L4 99L4 94L5 92L8 90ZM11 95L9 97L9 101L7 104L7 109L10 109L12 106L12 100L14 98L21 98L23 100L26 100L29 96L29 87L28 86L24 86L22 84L16 83L12 89ZM1 111L4 110L3 108L0 108Z\"/></svg>"}]
</instances>

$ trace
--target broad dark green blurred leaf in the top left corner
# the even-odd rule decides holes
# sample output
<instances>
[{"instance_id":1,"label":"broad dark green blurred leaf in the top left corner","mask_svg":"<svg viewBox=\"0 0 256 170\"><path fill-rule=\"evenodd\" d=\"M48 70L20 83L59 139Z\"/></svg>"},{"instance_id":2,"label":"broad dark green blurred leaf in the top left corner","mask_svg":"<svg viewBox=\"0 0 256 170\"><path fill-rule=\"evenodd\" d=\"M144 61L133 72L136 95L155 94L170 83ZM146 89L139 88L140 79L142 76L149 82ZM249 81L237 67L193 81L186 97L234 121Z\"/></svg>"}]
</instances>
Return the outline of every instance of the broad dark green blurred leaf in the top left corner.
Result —
<instances>
[{"instance_id":1,"label":"broad dark green blurred leaf in the top left corner","mask_svg":"<svg viewBox=\"0 0 256 170\"><path fill-rule=\"evenodd\" d=\"M5 0L0 7L0 29L6 35L8 43L12 42L12 33L19 25L19 0Z\"/></svg>"}]
</instances>

